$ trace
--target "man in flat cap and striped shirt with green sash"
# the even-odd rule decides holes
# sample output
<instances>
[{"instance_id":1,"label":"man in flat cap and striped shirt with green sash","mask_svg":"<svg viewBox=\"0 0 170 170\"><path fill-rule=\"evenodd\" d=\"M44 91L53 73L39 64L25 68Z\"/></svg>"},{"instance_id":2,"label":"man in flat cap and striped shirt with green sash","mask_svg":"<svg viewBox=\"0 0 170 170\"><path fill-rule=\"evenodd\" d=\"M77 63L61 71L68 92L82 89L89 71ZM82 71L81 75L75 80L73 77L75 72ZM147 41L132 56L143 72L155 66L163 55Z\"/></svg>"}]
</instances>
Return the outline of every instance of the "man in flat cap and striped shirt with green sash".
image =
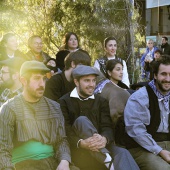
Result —
<instances>
[{"instance_id":1,"label":"man in flat cap and striped shirt with green sash","mask_svg":"<svg viewBox=\"0 0 170 170\"><path fill-rule=\"evenodd\" d=\"M70 170L61 109L43 97L49 71L42 62L22 64L23 92L0 108L0 169Z\"/></svg>"}]
</instances>

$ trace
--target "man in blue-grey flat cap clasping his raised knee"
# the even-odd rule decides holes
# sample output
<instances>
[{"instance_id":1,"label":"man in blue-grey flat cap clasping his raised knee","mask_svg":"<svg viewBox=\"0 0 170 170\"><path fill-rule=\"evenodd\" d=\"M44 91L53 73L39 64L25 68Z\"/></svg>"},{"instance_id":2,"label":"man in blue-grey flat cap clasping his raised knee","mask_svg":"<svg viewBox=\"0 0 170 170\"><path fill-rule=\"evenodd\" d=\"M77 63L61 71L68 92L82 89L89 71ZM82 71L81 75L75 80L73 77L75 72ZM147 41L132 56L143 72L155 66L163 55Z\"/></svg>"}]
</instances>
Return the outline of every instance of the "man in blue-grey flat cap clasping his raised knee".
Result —
<instances>
[{"instance_id":1,"label":"man in blue-grey flat cap clasping his raised knee","mask_svg":"<svg viewBox=\"0 0 170 170\"><path fill-rule=\"evenodd\" d=\"M108 102L93 94L98 71L79 65L72 75L76 87L59 102L75 165L83 170L139 170L126 149L113 145Z\"/></svg>"}]
</instances>

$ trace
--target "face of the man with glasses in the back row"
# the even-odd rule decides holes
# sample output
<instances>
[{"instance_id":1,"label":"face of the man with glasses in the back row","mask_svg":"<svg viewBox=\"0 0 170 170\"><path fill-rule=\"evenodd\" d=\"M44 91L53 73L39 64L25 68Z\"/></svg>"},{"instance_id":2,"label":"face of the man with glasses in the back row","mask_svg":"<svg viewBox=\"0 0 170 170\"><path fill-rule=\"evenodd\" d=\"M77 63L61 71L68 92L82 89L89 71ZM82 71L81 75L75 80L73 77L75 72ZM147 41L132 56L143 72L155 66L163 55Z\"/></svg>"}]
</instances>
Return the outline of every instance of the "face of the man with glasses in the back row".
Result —
<instances>
[{"instance_id":1,"label":"face of the man with glasses in the back row","mask_svg":"<svg viewBox=\"0 0 170 170\"><path fill-rule=\"evenodd\" d=\"M35 54L41 53L42 47L42 39L39 37L35 37L30 44L30 48Z\"/></svg>"}]
</instances>

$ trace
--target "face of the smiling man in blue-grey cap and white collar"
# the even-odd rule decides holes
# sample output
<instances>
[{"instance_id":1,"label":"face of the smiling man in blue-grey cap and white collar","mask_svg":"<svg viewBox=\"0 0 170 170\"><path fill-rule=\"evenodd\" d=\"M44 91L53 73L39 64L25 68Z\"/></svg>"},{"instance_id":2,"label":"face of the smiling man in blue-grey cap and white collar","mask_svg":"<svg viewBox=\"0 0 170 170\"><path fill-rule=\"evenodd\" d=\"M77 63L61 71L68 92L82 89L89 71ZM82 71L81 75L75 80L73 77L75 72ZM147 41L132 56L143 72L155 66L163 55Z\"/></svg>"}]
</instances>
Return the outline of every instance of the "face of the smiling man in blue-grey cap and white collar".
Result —
<instances>
[{"instance_id":1,"label":"face of the smiling man in blue-grey cap and white collar","mask_svg":"<svg viewBox=\"0 0 170 170\"><path fill-rule=\"evenodd\" d=\"M87 98L93 95L96 87L96 75L83 76L79 80L74 79L74 82L77 86L78 94L83 98Z\"/></svg>"}]
</instances>

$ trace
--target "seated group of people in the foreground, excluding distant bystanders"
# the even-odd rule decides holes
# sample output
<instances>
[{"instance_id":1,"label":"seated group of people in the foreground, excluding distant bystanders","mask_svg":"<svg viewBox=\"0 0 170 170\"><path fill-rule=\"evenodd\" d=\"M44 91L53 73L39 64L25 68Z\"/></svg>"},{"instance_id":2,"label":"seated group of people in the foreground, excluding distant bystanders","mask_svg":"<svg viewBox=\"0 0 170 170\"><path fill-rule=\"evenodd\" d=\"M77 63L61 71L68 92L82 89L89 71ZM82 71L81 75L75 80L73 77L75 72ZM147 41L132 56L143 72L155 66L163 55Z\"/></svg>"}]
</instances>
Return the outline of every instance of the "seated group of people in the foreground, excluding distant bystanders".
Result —
<instances>
[{"instance_id":1,"label":"seated group of people in the foreground, excluding distant bystanders","mask_svg":"<svg viewBox=\"0 0 170 170\"><path fill-rule=\"evenodd\" d=\"M170 56L155 57L152 80L132 94L114 37L94 67L75 33L56 58L39 36L27 54L9 37L0 51L0 170L170 169Z\"/></svg>"}]
</instances>

